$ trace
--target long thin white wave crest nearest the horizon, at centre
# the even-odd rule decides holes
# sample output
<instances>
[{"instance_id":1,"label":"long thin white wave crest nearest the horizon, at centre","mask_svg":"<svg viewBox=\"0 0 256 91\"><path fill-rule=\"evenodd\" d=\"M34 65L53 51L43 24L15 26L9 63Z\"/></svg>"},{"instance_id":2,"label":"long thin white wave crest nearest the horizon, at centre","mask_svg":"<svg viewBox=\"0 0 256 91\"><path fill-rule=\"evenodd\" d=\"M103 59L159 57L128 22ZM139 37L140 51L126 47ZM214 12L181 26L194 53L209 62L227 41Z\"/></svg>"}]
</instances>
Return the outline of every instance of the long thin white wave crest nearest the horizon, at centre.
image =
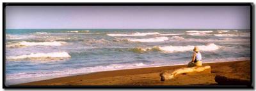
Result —
<instances>
[{"instance_id":1,"label":"long thin white wave crest nearest the horizon, at centre","mask_svg":"<svg viewBox=\"0 0 256 91\"><path fill-rule=\"evenodd\" d=\"M147 35L154 35L159 34L158 32L136 32L134 34L107 34L108 36L147 36Z\"/></svg>"}]
</instances>

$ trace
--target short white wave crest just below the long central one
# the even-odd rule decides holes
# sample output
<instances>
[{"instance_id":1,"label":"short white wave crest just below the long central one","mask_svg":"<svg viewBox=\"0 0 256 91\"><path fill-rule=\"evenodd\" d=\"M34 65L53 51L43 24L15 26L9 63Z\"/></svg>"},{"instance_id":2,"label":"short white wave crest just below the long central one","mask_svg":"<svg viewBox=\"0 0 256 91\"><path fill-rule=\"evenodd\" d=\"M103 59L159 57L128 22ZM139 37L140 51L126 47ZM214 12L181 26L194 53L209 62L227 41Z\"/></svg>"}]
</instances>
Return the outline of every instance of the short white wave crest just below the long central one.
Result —
<instances>
[{"instance_id":1,"label":"short white wave crest just below the long central one","mask_svg":"<svg viewBox=\"0 0 256 91\"><path fill-rule=\"evenodd\" d=\"M132 41L132 42L163 42L168 40L167 37L157 37L157 38L148 38L148 39L127 39L128 41Z\"/></svg>"}]
</instances>

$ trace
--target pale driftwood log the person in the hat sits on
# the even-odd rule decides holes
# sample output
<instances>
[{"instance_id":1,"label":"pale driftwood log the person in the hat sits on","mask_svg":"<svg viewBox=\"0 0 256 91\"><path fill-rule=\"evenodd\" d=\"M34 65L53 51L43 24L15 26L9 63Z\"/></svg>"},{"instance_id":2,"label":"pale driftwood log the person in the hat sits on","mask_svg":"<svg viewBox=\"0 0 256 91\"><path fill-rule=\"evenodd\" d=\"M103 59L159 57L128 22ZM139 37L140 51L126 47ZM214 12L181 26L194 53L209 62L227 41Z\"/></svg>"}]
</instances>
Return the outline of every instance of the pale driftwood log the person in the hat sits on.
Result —
<instances>
[{"instance_id":1,"label":"pale driftwood log the person in the hat sits on","mask_svg":"<svg viewBox=\"0 0 256 91\"><path fill-rule=\"evenodd\" d=\"M161 81L171 80L177 77L179 74L196 74L196 73L207 73L211 74L211 66L202 66L202 67L183 67L180 69L176 69L172 73L163 72L160 73Z\"/></svg>"}]
</instances>

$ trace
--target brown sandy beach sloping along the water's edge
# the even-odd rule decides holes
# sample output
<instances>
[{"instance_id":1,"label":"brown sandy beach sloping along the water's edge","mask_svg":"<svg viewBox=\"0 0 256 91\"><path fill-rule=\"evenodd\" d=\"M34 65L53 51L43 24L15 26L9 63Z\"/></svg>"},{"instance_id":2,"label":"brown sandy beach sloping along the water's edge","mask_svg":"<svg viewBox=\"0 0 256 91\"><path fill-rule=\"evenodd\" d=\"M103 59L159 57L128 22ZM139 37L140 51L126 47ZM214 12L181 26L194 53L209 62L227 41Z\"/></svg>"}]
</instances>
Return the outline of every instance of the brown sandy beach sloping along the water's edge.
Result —
<instances>
[{"instance_id":1,"label":"brown sandy beach sloping along the water's edge","mask_svg":"<svg viewBox=\"0 0 256 91\"><path fill-rule=\"evenodd\" d=\"M160 81L161 72L186 67L164 66L81 74L20 85L220 85L214 80L216 75L250 81L250 60L203 65L211 66L211 74L182 74L172 80Z\"/></svg>"}]
</instances>

